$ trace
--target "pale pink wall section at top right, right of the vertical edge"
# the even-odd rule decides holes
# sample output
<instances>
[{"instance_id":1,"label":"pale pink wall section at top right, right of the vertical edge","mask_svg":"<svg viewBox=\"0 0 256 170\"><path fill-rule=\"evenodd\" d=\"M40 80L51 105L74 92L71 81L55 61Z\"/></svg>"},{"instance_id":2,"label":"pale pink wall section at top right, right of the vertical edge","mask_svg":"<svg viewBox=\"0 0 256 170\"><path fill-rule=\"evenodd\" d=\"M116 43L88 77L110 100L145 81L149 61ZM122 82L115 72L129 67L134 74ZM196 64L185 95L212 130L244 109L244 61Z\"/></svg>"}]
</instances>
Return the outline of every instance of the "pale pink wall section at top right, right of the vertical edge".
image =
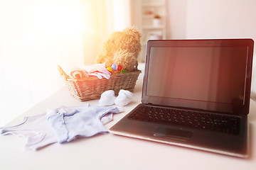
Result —
<instances>
[{"instance_id":1,"label":"pale pink wall section at top right, right of the vertical edge","mask_svg":"<svg viewBox=\"0 0 256 170\"><path fill-rule=\"evenodd\" d=\"M255 0L193 0L187 3L187 38L254 38Z\"/></svg>"}]
</instances>

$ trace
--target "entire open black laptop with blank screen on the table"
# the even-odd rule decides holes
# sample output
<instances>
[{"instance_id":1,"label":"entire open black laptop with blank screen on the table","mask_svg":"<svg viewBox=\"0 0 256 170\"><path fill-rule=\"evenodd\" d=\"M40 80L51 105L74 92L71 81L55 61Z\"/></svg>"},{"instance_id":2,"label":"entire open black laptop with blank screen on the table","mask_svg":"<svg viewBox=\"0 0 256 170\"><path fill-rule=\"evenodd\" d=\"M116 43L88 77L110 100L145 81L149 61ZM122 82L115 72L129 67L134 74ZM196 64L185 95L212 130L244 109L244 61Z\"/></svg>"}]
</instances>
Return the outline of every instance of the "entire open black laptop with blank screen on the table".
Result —
<instances>
[{"instance_id":1,"label":"entire open black laptop with blank screen on the table","mask_svg":"<svg viewBox=\"0 0 256 170\"><path fill-rule=\"evenodd\" d=\"M149 40L142 103L110 132L248 157L252 39Z\"/></svg>"}]
</instances>

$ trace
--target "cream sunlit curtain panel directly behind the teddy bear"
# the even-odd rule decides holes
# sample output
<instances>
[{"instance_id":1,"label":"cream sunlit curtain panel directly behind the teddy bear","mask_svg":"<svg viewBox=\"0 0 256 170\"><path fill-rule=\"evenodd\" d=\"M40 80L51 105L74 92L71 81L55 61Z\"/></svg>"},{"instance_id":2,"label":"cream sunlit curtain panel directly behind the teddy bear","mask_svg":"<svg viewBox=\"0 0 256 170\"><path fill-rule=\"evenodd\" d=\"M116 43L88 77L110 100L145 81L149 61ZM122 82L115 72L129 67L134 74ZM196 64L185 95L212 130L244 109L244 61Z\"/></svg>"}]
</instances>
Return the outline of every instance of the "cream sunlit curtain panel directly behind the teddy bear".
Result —
<instances>
[{"instance_id":1,"label":"cream sunlit curtain panel directly behind the teddy bear","mask_svg":"<svg viewBox=\"0 0 256 170\"><path fill-rule=\"evenodd\" d=\"M85 64L95 62L101 42L113 31L131 26L130 0L80 1Z\"/></svg>"}]
</instances>

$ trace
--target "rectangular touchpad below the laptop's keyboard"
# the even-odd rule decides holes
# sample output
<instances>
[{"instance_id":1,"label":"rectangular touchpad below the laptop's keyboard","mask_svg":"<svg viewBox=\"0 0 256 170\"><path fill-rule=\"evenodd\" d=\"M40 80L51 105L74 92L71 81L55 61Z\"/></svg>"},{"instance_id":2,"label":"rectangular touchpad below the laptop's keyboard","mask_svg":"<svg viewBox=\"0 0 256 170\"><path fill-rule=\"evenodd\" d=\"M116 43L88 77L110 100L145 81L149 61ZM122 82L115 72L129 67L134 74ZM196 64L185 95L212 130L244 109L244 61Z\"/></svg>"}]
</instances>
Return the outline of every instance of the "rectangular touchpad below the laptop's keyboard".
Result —
<instances>
[{"instance_id":1,"label":"rectangular touchpad below the laptop's keyboard","mask_svg":"<svg viewBox=\"0 0 256 170\"><path fill-rule=\"evenodd\" d=\"M191 131L178 130L174 128L159 127L154 133L155 137L174 138L178 140L188 140L192 135Z\"/></svg>"}]
</instances>

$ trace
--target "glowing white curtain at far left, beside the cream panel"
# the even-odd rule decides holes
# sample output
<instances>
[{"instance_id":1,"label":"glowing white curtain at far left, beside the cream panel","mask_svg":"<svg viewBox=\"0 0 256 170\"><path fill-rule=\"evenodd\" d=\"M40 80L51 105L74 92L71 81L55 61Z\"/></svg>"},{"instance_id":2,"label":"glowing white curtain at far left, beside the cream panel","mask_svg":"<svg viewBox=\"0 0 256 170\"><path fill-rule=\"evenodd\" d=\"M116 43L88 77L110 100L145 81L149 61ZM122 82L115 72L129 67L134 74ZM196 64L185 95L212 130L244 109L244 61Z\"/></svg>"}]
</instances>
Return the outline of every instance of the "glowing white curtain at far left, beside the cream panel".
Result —
<instances>
[{"instance_id":1,"label":"glowing white curtain at far left, beside the cream panel","mask_svg":"<svg viewBox=\"0 0 256 170\"><path fill-rule=\"evenodd\" d=\"M63 86L62 62L83 62L79 1L0 0L0 125Z\"/></svg>"}]
</instances>

